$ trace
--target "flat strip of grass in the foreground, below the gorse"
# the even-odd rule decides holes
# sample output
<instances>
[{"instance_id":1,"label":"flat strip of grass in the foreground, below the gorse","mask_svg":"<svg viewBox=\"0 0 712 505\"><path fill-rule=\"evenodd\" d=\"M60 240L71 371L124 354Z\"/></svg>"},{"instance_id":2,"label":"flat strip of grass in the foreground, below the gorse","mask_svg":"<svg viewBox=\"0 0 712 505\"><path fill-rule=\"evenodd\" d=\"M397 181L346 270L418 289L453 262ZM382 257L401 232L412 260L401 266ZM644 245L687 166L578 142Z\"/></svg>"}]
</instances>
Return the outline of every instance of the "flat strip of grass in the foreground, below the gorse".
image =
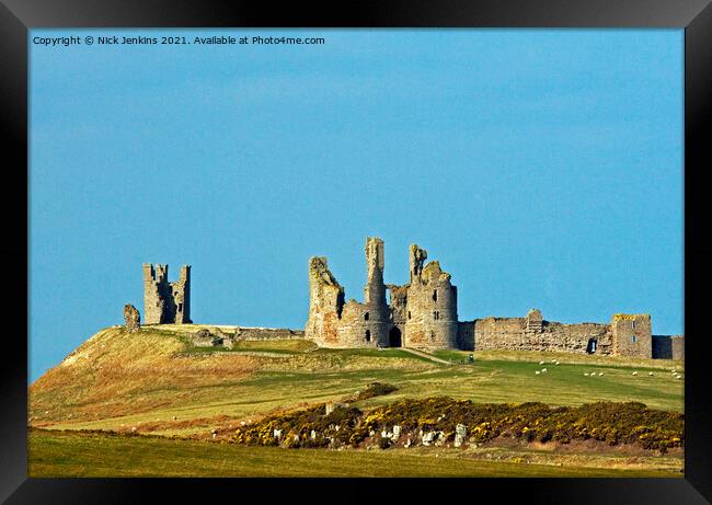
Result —
<instances>
[{"instance_id":1,"label":"flat strip of grass in the foreground, below the gorse","mask_svg":"<svg viewBox=\"0 0 712 505\"><path fill-rule=\"evenodd\" d=\"M437 456L435 456L437 454ZM490 452L492 455L492 452ZM496 454L496 451L494 452ZM241 447L206 441L31 432L28 475L37 477L681 477L667 460L653 470L630 458L598 468L486 461L461 450L335 451ZM620 459L620 458L619 458ZM644 458L639 458L643 460ZM536 460L535 460L536 461ZM642 466L645 461L640 461Z\"/></svg>"}]
</instances>

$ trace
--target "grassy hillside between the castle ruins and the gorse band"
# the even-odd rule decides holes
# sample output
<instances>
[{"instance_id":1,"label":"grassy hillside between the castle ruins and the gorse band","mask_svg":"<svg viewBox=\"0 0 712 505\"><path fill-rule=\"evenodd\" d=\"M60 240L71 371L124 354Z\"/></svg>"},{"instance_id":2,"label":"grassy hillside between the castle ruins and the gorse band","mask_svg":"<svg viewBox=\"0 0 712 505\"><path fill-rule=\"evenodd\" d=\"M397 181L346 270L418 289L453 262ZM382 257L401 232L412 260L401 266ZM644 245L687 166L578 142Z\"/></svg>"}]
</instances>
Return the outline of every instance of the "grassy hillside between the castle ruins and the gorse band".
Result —
<instances>
[{"instance_id":1,"label":"grassy hillside between the castle ruins and the gorse band","mask_svg":"<svg viewBox=\"0 0 712 505\"><path fill-rule=\"evenodd\" d=\"M358 406L427 395L550 404L640 401L675 411L684 404L682 380L665 369L681 370L679 361L497 352L475 353L474 365L447 366L399 349L315 349L305 341L243 342L233 351L208 352L191 347L186 331L195 326L99 332L32 385L31 424L205 434L267 412L338 400L376 380L401 389ZM469 353L438 354L459 359ZM561 365L548 363L546 375L535 374L541 359L554 357ZM594 370L604 376L583 375Z\"/></svg>"}]
</instances>

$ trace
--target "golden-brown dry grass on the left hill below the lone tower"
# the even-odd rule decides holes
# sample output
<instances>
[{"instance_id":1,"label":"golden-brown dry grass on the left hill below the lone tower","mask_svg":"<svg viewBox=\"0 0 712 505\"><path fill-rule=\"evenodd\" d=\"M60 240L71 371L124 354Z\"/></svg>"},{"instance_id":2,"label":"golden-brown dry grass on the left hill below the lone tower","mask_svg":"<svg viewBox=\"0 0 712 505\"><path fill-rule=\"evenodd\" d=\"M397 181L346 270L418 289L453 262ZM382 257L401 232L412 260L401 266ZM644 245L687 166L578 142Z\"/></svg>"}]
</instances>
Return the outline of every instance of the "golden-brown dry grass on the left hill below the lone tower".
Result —
<instances>
[{"instance_id":1,"label":"golden-brown dry grass on the left hill below the lone tower","mask_svg":"<svg viewBox=\"0 0 712 505\"><path fill-rule=\"evenodd\" d=\"M181 340L156 332L104 330L30 387L31 416L42 423L147 412L259 366L237 354L179 357L184 348Z\"/></svg>"}]
</instances>

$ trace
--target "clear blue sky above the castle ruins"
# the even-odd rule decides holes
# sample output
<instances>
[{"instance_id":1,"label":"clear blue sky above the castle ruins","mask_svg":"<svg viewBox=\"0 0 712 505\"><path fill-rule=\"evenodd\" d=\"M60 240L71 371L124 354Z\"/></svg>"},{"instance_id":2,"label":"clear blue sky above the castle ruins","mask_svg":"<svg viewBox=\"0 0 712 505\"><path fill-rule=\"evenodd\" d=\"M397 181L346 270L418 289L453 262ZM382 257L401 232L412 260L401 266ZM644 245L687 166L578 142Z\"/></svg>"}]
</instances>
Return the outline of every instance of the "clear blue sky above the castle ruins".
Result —
<instances>
[{"instance_id":1,"label":"clear blue sky above the castle ruins","mask_svg":"<svg viewBox=\"0 0 712 505\"><path fill-rule=\"evenodd\" d=\"M216 35L33 30L33 36ZM682 30L266 31L302 46L31 50L30 374L193 265L198 323L302 328L439 260L459 315L682 326Z\"/></svg>"}]
</instances>

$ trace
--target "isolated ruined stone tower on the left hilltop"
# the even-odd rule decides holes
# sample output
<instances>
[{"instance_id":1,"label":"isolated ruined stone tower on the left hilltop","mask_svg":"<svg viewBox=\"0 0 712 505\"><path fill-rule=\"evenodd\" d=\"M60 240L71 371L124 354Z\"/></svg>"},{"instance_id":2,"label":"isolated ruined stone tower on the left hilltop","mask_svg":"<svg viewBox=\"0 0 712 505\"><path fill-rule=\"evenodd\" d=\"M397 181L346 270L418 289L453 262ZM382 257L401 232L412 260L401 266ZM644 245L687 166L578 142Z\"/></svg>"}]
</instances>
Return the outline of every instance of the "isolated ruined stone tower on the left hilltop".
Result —
<instances>
[{"instance_id":1,"label":"isolated ruined stone tower on the left hilltop","mask_svg":"<svg viewBox=\"0 0 712 505\"><path fill-rule=\"evenodd\" d=\"M168 265L143 263L145 324L191 321L191 266L183 265L179 279L168 282Z\"/></svg>"}]
</instances>

